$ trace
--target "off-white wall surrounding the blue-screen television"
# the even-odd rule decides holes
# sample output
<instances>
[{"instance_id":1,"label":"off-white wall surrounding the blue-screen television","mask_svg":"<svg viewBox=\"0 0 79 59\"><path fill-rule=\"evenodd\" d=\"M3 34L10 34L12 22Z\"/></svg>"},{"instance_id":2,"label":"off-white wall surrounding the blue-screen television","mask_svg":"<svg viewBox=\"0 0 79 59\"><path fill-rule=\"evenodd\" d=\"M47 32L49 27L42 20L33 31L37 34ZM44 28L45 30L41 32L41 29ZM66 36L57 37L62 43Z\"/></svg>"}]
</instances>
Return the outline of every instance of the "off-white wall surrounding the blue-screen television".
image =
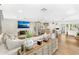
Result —
<instances>
[{"instance_id":1,"label":"off-white wall surrounding the blue-screen television","mask_svg":"<svg viewBox=\"0 0 79 59\"><path fill-rule=\"evenodd\" d=\"M17 32L19 30L26 30L26 29L18 29L17 28L17 26L18 26L17 21L18 21L18 19L4 19L4 20L2 20L2 32L17 34ZM23 20L23 21L27 21L27 20ZM31 31L34 32L34 22L31 22L30 29L31 29Z\"/></svg>"}]
</instances>

